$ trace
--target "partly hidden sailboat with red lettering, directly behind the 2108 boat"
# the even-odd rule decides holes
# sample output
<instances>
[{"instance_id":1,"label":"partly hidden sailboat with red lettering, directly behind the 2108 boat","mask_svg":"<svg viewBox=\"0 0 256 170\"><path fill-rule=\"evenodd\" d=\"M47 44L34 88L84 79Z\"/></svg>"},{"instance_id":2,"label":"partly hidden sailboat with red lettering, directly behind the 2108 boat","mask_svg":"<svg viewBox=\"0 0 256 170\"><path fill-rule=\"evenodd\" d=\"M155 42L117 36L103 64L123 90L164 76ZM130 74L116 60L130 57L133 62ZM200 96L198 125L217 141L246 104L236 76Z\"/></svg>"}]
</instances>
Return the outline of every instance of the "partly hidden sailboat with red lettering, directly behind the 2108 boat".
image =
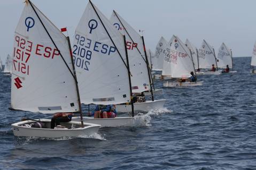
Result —
<instances>
[{"instance_id":1,"label":"partly hidden sailboat with red lettering, directly behind the 2108 boat","mask_svg":"<svg viewBox=\"0 0 256 170\"><path fill-rule=\"evenodd\" d=\"M127 37L126 46L129 56L131 70L131 85L133 93L141 94L145 91L151 92L151 100L134 103L135 111L149 111L151 109L161 109L164 107L165 100L154 100L153 81L151 79L151 70L149 60L146 55L144 37L140 36L133 27L131 27L117 12L113 11L110 21L121 34ZM120 28L118 27L120 26ZM117 105L119 112L130 112L130 104Z\"/></svg>"}]
</instances>

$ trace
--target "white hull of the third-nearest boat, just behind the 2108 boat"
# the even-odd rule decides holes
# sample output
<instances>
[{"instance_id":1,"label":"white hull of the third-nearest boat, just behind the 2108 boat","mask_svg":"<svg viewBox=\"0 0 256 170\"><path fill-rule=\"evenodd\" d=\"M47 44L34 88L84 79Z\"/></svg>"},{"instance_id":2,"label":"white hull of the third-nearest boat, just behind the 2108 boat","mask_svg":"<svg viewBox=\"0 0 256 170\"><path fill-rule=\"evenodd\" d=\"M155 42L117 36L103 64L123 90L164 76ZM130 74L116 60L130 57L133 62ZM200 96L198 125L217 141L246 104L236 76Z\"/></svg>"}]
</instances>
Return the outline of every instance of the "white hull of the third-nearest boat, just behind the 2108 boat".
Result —
<instances>
[{"instance_id":1,"label":"white hull of the third-nearest boat, just behind the 2108 boat","mask_svg":"<svg viewBox=\"0 0 256 170\"><path fill-rule=\"evenodd\" d=\"M166 100L146 101L142 103L134 103L134 111L150 111L152 109L164 108ZM118 104L115 106L118 112L131 112L130 104Z\"/></svg>"}]
</instances>

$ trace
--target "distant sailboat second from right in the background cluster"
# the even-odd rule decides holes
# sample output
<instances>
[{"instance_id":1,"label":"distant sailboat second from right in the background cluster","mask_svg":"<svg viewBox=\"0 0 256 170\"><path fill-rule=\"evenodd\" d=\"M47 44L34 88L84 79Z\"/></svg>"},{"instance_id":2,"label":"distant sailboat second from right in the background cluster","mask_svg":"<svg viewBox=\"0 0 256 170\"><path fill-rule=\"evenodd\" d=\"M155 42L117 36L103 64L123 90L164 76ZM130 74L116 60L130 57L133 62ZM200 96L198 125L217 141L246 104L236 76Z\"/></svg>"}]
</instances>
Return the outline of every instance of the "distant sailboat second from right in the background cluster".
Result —
<instances>
[{"instance_id":1,"label":"distant sailboat second from right in the background cluster","mask_svg":"<svg viewBox=\"0 0 256 170\"><path fill-rule=\"evenodd\" d=\"M201 48L198 50L199 68L205 69L203 75L220 75L221 70L218 70L218 63L215 56L214 48L209 45L204 39ZM216 71L208 71L212 68L212 64L216 67Z\"/></svg>"}]
</instances>

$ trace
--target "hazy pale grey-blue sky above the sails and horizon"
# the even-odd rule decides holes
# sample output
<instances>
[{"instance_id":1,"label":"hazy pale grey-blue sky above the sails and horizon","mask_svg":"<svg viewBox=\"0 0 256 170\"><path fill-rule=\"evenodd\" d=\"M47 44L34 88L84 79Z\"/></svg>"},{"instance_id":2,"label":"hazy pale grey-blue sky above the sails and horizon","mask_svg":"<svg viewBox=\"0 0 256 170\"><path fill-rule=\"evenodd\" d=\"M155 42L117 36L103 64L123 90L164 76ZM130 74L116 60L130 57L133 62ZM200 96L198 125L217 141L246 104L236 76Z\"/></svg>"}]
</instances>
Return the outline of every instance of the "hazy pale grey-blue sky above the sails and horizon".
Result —
<instances>
[{"instance_id":1,"label":"hazy pale grey-blue sky above the sails and horizon","mask_svg":"<svg viewBox=\"0 0 256 170\"><path fill-rule=\"evenodd\" d=\"M0 56L12 54L14 30L24 0L0 0ZM59 28L73 37L88 0L32 0ZM92 0L107 18L117 11L136 30L145 30L146 47L155 51L161 36L177 35L200 47L205 39L218 50L222 42L234 56L251 56L256 41L255 0Z\"/></svg>"}]
</instances>

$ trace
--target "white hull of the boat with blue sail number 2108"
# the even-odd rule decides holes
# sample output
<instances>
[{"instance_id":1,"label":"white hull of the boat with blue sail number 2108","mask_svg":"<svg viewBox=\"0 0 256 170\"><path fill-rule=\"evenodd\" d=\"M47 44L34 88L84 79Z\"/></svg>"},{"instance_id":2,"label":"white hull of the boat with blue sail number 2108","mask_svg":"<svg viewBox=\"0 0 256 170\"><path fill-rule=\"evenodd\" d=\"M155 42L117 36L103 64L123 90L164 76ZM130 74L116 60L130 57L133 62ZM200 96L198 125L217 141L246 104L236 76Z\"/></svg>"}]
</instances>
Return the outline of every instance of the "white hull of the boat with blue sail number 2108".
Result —
<instances>
[{"instance_id":1,"label":"white hull of the boat with blue sail number 2108","mask_svg":"<svg viewBox=\"0 0 256 170\"><path fill-rule=\"evenodd\" d=\"M73 117L72 121L80 121L80 117ZM93 117L83 117L83 122L98 124L100 127L142 127L146 126L149 122L145 116L135 117L115 117L105 119L95 119Z\"/></svg>"}]
</instances>

